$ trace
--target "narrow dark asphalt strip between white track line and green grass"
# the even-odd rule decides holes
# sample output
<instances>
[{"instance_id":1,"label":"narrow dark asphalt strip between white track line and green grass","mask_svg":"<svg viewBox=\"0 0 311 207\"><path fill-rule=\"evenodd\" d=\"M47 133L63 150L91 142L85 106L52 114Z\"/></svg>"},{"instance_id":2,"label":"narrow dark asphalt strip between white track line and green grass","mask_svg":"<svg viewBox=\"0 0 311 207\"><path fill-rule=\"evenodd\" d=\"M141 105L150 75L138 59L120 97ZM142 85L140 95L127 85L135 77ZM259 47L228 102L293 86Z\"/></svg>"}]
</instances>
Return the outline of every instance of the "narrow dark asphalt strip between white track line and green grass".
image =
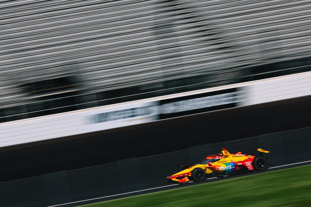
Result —
<instances>
[{"instance_id":1,"label":"narrow dark asphalt strip between white track line and green grass","mask_svg":"<svg viewBox=\"0 0 311 207\"><path fill-rule=\"evenodd\" d=\"M190 182L181 183L181 184L179 184L179 183L168 184L165 186L159 186L159 187L155 187L155 188L149 188L149 189L147 188L147 189L142 189L139 191L132 191L132 192L121 193L121 194L116 194L116 195L103 196L103 197L92 198L92 199L87 199L87 200L80 200L80 201L75 201L75 202L71 202L71 203L59 204L59 205L51 205L48 207L56 207L56 206L71 207L71 206L77 206L77 205L86 205L86 204L97 203L97 202L101 202L101 201L113 200L113 199L118 199L118 198L124 198L124 197L129 197L129 196L137 196L137 195L142 195L142 194L152 193L152 192L157 192L157 191L164 191L164 190L175 189L175 188L180 188L180 187L204 184L204 183L209 183L209 182L216 182L216 181L220 181L220 180L227 180L227 179L231 179L231 178L238 178L238 177L253 175L253 174L258 174L258 173L271 172L271 171L276 171L276 170L280 170L280 169L302 166L302 165L306 165L306 164L311 164L311 160L304 161L304 162L298 162L298 163L292 163L292 164L286 164L286 165L280 165L280 166L274 166L274 167L267 168L263 171L250 171L250 172L245 172L245 173L241 173L241 174L228 175L226 177L206 178L202 182L190 181Z\"/></svg>"}]
</instances>

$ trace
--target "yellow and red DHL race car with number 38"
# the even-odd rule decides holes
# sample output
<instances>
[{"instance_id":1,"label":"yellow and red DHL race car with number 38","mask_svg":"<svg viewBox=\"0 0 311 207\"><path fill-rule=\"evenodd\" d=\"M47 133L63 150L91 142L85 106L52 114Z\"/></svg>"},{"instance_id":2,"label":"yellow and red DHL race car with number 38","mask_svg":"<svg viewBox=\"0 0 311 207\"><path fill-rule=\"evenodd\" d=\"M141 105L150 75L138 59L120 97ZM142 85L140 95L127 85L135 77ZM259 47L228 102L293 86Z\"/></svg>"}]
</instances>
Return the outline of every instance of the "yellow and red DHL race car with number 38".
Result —
<instances>
[{"instance_id":1,"label":"yellow and red DHL race car with number 38","mask_svg":"<svg viewBox=\"0 0 311 207\"><path fill-rule=\"evenodd\" d=\"M205 179L206 175L224 176L249 170L263 170L267 167L267 157L264 157L263 153L269 153L269 151L260 148L257 150L259 155L255 156L248 153L242 154L242 152L230 154L222 148L221 154L209 155L198 164L181 165L179 172L168 176L167 179L179 183L188 182L189 179L200 182Z\"/></svg>"}]
</instances>

